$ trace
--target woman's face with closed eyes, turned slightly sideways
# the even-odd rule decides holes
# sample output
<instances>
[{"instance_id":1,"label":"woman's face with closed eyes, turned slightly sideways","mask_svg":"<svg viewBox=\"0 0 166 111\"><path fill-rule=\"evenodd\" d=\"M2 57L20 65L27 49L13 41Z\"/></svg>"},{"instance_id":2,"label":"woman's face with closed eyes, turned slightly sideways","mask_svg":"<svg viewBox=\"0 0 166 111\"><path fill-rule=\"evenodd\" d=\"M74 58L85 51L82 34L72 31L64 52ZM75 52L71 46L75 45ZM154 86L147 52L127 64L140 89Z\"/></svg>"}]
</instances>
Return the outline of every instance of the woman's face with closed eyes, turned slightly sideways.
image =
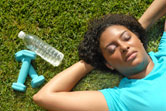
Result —
<instances>
[{"instance_id":1,"label":"woman's face with closed eyes, turned slightly sideways","mask_svg":"<svg viewBox=\"0 0 166 111\"><path fill-rule=\"evenodd\" d=\"M106 66L127 77L141 72L150 61L137 35L120 25L110 26L101 34L100 49Z\"/></svg>"}]
</instances>

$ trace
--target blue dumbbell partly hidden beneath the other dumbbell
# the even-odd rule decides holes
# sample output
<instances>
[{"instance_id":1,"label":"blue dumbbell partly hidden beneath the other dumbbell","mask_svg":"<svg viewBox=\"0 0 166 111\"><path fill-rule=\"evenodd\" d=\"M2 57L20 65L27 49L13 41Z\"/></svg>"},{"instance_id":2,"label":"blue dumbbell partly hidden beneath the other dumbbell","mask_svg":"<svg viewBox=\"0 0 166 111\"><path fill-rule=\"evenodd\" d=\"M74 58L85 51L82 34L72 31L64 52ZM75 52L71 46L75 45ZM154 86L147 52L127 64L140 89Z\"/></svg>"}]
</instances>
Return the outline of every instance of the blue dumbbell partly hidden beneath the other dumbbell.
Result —
<instances>
[{"instance_id":1,"label":"blue dumbbell partly hidden beneath the other dumbbell","mask_svg":"<svg viewBox=\"0 0 166 111\"><path fill-rule=\"evenodd\" d=\"M30 66L30 69L29 69L29 76L32 78L32 81L31 81L32 88L36 88L40 86L41 84L43 84L45 80L44 76L42 75L38 76L38 74L36 73L32 65Z\"/></svg>"}]
</instances>

